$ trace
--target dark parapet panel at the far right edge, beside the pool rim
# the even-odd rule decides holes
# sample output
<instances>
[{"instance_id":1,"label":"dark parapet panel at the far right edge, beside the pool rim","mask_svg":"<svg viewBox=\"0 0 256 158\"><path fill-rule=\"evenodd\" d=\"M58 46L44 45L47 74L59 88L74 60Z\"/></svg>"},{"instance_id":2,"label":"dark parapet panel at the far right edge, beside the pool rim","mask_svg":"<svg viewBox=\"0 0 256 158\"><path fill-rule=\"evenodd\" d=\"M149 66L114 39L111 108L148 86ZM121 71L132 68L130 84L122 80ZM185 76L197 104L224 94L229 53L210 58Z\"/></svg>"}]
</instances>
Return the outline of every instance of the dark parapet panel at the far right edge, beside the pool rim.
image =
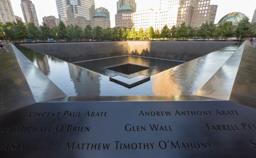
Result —
<instances>
[{"instance_id":1,"label":"dark parapet panel at the far right edge, beside the pool rim","mask_svg":"<svg viewBox=\"0 0 256 158\"><path fill-rule=\"evenodd\" d=\"M256 48L255 43L245 43L230 100L256 108Z\"/></svg>"}]
</instances>

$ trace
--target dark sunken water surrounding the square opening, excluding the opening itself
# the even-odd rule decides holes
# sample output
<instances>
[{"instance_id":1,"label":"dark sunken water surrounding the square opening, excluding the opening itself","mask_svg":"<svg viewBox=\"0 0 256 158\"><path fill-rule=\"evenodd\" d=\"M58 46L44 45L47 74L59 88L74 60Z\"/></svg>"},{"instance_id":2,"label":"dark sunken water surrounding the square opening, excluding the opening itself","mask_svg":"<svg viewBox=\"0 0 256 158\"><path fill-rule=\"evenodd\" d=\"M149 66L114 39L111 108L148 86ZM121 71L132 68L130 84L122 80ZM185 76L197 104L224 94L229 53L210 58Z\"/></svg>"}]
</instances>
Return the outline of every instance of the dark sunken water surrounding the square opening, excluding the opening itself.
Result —
<instances>
[{"instance_id":1,"label":"dark sunken water surrounding the square opening, excluding the opening itself","mask_svg":"<svg viewBox=\"0 0 256 158\"><path fill-rule=\"evenodd\" d=\"M124 73L119 73L113 70L106 69L107 67L121 65L125 63L147 66L151 68L147 70L139 71L138 73L133 73L131 75L126 75ZM104 58L99 60L78 62L74 64L81 66L83 68L92 70L94 72L101 73L102 75L106 75L108 77L120 75L125 78L134 78L139 75L152 76L164 70L168 70L172 67L178 66L182 63L184 62L163 60L163 59L157 59L157 58L144 58L139 56L119 56L114 58Z\"/></svg>"}]
</instances>

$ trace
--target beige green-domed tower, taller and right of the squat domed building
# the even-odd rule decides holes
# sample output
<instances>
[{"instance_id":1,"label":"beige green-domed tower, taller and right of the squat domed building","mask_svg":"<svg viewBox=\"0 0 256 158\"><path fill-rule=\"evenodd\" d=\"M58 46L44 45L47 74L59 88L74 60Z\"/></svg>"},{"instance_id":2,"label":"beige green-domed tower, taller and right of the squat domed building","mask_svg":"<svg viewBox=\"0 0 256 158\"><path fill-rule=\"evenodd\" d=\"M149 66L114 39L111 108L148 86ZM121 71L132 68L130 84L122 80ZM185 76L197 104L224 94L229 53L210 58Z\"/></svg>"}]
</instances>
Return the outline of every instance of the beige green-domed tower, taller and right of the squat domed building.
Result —
<instances>
[{"instance_id":1,"label":"beige green-domed tower, taller and right of the squat domed building","mask_svg":"<svg viewBox=\"0 0 256 158\"><path fill-rule=\"evenodd\" d=\"M135 10L130 5L123 5L115 15L116 27L131 29L133 27L133 13Z\"/></svg>"}]
</instances>

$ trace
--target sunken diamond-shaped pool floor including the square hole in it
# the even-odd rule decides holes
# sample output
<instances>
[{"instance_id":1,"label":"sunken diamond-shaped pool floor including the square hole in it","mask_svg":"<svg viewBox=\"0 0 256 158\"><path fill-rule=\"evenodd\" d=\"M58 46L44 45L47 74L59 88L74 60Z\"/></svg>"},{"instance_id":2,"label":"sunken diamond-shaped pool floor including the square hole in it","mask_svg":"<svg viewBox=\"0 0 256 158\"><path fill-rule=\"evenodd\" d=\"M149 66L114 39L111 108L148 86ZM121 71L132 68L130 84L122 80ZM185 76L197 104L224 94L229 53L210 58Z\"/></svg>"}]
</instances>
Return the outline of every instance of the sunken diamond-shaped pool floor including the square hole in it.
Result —
<instances>
[{"instance_id":1,"label":"sunken diamond-shaped pool floor including the square hole in it","mask_svg":"<svg viewBox=\"0 0 256 158\"><path fill-rule=\"evenodd\" d=\"M152 76L178 66L184 62L140 56L117 56L73 63L94 72L112 76L134 78L140 75Z\"/></svg>"}]
</instances>

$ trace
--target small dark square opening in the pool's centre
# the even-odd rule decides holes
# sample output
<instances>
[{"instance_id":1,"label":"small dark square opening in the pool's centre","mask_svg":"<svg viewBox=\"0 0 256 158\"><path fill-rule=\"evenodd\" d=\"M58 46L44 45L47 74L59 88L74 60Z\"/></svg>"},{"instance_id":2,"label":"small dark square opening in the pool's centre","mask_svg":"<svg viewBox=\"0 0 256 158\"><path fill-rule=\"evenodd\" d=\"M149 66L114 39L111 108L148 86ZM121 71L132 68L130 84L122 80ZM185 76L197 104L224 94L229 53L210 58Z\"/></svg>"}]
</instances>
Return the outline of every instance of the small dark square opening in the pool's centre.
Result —
<instances>
[{"instance_id":1,"label":"small dark square opening in the pool's centre","mask_svg":"<svg viewBox=\"0 0 256 158\"><path fill-rule=\"evenodd\" d=\"M107 69L130 75L139 71L147 70L149 68L150 67L126 63L118 66L108 67Z\"/></svg>"}]
</instances>

